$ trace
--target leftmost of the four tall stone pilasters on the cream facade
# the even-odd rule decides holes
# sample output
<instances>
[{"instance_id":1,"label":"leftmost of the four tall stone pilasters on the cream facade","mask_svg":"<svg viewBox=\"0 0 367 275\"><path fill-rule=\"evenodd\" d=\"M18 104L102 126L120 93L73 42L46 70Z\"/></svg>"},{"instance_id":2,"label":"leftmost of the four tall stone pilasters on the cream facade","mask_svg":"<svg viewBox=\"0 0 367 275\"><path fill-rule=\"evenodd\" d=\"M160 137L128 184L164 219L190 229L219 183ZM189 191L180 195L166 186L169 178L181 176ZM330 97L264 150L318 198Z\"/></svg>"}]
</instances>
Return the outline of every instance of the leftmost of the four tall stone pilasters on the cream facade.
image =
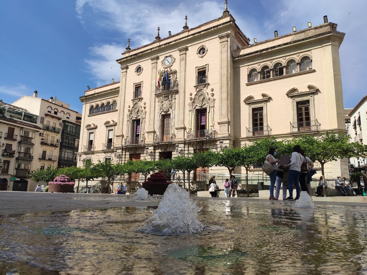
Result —
<instances>
[{"instance_id":1,"label":"leftmost of the four tall stone pilasters on the cream facade","mask_svg":"<svg viewBox=\"0 0 367 275\"><path fill-rule=\"evenodd\" d=\"M126 78L127 78L127 65L121 66L121 81L120 81L120 93L119 102L117 103L117 110L119 116L117 118L117 131L115 133L115 146L123 146L123 127L124 127L124 112L125 112L125 102L126 102Z\"/></svg>"}]
</instances>

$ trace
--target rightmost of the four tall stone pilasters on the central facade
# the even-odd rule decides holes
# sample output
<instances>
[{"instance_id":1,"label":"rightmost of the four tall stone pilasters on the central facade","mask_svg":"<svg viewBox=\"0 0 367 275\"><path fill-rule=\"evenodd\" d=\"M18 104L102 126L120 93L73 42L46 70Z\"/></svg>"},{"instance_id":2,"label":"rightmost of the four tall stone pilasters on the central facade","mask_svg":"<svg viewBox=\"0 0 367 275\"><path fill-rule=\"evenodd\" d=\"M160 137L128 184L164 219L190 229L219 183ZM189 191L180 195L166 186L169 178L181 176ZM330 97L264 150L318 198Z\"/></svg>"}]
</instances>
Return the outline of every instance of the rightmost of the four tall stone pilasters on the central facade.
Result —
<instances>
[{"instance_id":1,"label":"rightmost of the four tall stone pilasters on the central facade","mask_svg":"<svg viewBox=\"0 0 367 275\"><path fill-rule=\"evenodd\" d=\"M229 113L228 105L230 102L230 53L229 53L229 33L223 34L219 37L220 43L220 72L219 72L219 95L218 95L218 108L219 108L219 129L217 130L219 135L229 135Z\"/></svg>"}]
</instances>

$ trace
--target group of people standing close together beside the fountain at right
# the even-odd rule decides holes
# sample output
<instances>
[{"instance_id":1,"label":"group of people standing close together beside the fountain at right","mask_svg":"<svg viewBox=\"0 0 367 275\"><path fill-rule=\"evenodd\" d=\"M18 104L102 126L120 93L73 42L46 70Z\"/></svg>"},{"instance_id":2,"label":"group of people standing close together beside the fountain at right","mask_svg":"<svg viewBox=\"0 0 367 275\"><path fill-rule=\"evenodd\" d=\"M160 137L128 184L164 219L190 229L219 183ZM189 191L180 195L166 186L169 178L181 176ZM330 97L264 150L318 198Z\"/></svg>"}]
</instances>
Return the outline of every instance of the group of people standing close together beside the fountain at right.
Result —
<instances>
[{"instance_id":1,"label":"group of people standing close together beside the fountain at right","mask_svg":"<svg viewBox=\"0 0 367 275\"><path fill-rule=\"evenodd\" d=\"M312 195L310 185L312 177L313 162L309 157L306 157L305 151L296 145L293 147L293 152L290 158L290 163L286 165L278 165L279 159L275 157L276 149L271 147L269 154L266 156L266 163L273 166L274 170L269 175L270 177L270 197L269 199L278 200L280 187L283 185L283 200L293 201L299 199L302 191ZM296 197L293 198L293 184L296 189ZM275 186L275 195L274 195ZM287 188L289 196L287 197Z\"/></svg>"}]
</instances>

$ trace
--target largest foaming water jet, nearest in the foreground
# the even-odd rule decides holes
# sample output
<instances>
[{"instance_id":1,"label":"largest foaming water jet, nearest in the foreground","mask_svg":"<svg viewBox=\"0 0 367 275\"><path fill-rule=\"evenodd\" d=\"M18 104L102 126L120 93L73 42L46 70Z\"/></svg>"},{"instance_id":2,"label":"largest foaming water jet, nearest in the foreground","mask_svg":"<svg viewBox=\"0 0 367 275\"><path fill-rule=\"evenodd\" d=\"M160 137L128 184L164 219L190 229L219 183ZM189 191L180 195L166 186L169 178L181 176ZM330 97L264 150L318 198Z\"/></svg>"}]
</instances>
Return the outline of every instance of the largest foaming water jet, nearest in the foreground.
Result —
<instances>
[{"instance_id":1,"label":"largest foaming water jet, nearest in the foreground","mask_svg":"<svg viewBox=\"0 0 367 275\"><path fill-rule=\"evenodd\" d=\"M168 185L153 216L145 221L142 232L160 235L181 235L203 232L197 219L200 208L190 201L188 192L177 184Z\"/></svg>"}]
</instances>

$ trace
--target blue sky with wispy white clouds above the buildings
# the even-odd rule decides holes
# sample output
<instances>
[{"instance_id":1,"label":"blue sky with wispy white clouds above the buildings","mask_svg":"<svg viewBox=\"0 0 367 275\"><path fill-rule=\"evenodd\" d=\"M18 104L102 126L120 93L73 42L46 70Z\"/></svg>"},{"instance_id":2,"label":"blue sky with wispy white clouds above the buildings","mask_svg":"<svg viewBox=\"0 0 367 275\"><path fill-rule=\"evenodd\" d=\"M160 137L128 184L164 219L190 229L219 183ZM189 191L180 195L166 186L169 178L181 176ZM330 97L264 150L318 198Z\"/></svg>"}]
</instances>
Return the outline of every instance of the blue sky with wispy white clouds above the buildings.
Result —
<instances>
[{"instance_id":1,"label":"blue sky with wispy white clouds above the buildings","mask_svg":"<svg viewBox=\"0 0 367 275\"><path fill-rule=\"evenodd\" d=\"M130 38L131 48L160 36L221 16L224 0L1 0L0 99L12 103L38 91L81 111L79 96L87 85L119 81L121 57ZM340 47L344 107L353 108L366 95L367 1L247 1L228 0L228 10L251 39L274 36L329 22L346 33Z\"/></svg>"}]
</instances>

